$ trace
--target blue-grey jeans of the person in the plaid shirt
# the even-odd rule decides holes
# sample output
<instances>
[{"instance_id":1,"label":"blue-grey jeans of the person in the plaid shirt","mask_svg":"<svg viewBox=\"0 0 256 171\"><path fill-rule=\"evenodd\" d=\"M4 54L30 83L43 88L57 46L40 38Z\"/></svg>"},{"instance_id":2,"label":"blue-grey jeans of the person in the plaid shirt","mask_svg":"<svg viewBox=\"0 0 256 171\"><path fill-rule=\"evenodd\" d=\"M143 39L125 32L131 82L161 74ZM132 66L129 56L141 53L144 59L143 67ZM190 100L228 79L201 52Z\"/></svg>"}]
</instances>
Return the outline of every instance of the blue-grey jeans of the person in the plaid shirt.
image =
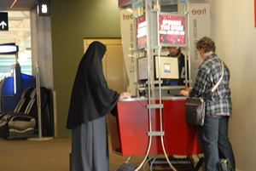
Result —
<instances>
[{"instance_id":1,"label":"blue-grey jeans of the person in the plaid shirt","mask_svg":"<svg viewBox=\"0 0 256 171\"><path fill-rule=\"evenodd\" d=\"M231 168L236 170L235 157L228 137L230 117L206 116L199 128L201 145L205 155L205 171L218 171L219 159L229 159Z\"/></svg>"}]
</instances>

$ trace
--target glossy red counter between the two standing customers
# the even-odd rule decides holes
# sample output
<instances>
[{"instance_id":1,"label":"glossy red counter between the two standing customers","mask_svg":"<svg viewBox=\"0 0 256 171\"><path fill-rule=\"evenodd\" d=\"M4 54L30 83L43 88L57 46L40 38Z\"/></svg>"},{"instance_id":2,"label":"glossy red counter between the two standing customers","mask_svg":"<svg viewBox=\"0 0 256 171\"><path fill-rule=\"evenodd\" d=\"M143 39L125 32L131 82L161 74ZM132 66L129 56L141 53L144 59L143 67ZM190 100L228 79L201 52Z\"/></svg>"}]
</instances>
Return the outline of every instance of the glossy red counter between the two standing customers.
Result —
<instances>
[{"instance_id":1,"label":"glossy red counter between the two standing customers","mask_svg":"<svg viewBox=\"0 0 256 171\"><path fill-rule=\"evenodd\" d=\"M197 128L185 118L186 100L162 100L164 144L167 155L202 153ZM155 104L159 101L156 100ZM119 101L117 117L109 117L113 152L122 156L145 155L149 143L148 100ZM152 112L152 131L160 131L160 110ZM163 154L160 136L152 138L149 154Z\"/></svg>"}]
</instances>

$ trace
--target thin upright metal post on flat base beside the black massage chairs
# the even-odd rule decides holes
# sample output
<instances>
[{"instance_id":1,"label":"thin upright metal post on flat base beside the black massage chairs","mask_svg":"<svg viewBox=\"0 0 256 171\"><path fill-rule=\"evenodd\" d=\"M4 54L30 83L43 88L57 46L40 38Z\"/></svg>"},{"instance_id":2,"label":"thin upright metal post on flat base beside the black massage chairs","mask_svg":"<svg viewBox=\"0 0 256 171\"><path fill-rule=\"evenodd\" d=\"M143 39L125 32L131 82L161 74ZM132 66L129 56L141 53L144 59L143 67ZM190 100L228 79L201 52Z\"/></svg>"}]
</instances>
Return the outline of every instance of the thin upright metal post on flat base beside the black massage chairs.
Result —
<instances>
[{"instance_id":1,"label":"thin upright metal post on flat base beside the black massage chairs","mask_svg":"<svg viewBox=\"0 0 256 171\"><path fill-rule=\"evenodd\" d=\"M39 77L39 66L36 64L37 77L36 77L36 88L37 88L37 101L38 101L38 137L29 138L27 140L42 141L42 140L53 140L53 137L42 137L42 119L41 119L41 94L40 94L40 77Z\"/></svg>"}]
</instances>

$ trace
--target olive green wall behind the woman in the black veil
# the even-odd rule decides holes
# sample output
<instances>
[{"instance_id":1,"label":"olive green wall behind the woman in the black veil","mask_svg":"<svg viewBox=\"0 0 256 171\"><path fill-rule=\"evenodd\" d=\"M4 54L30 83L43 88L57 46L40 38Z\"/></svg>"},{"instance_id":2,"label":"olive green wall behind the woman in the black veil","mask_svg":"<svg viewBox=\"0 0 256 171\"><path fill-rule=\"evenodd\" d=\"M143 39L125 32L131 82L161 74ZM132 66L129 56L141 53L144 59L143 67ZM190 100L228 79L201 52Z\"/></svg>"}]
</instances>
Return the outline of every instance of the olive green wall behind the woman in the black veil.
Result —
<instances>
[{"instance_id":1,"label":"olive green wall behind the woman in the black veil","mask_svg":"<svg viewBox=\"0 0 256 171\"><path fill-rule=\"evenodd\" d=\"M83 39L120 37L118 0L51 1L53 79L56 94L57 137L67 137L67 112Z\"/></svg>"}]
</instances>

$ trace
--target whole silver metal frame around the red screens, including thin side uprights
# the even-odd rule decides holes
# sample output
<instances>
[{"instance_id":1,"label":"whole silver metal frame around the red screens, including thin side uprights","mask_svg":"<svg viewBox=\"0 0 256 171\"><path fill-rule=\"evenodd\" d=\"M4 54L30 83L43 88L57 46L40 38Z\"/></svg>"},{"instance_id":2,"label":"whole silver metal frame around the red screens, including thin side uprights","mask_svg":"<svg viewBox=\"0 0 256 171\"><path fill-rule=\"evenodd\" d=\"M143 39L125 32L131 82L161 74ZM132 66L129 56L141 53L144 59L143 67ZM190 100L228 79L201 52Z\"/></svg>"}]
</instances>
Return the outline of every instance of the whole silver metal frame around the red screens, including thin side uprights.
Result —
<instances>
[{"instance_id":1,"label":"whole silver metal frame around the red screens, including thin side uprights","mask_svg":"<svg viewBox=\"0 0 256 171\"><path fill-rule=\"evenodd\" d=\"M133 2L135 2L135 0L133 0ZM166 148L165 148L165 144L164 144L164 136L165 136L165 131L163 130L163 125L162 125L162 109L164 107L164 105L162 104L162 88L161 88L161 80L160 80L160 48L161 46L165 46L165 44L160 44L160 35L159 35L159 25L157 24L157 47L154 47L153 41L152 39L154 38L154 35L152 35L152 17L153 17L153 13L157 14L157 23L159 23L159 14L163 14L160 13L159 7L158 5L160 4L160 0L145 0L143 1L145 2L145 16L146 16L146 22L147 22L147 47L145 48L147 50L147 57L148 57L148 88L144 88L144 89L148 89L148 126L149 126L149 130L148 130L148 137L149 137L149 142L148 142L148 150L147 153L143 159L143 162L141 162L141 164L135 169L135 171L138 171L140 168L143 167L143 164L146 162L147 158L148 158L148 154L152 145L152 137L153 136L160 136L160 140L161 140L161 145L162 145L162 149L164 151L164 155L166 157L166 161L168 162L168 164L170 165L170 167L172 168L172 170L177 171L176 168L174 168L172 166L172 163L170 162L167 153L166 153ZM156 9L152 9L152 4L156 3L157 8ZM133 9L135 9L135 6L132 6ZM140 6L141 7L141 6ZM183 15L185 16L185 20L186 20L186 30L185 30L185 35L186 35L186 43L183 46L180 47L187 47L189 46L189 26L188 26L188 18L186 14L177 14L177 15ZM138 16L137 14L134 14L135 18L138 18L140 16ZM136 22L136 21L135 21ZM136 27L136 25L134 25ZM135 28L136 30L136 28ZM136 34L134 35L134 40L137 40ZM137 41L134 42L134 47L137 47ZM154 49L158 49L158 70L159 70L159 78L158 81L154 81L154 67L153 67L153 51ZM134 54L134 60L135 60L135 72L136 72L136 76L135 76L135 83L137 83L137 53L140 51L141 49L137 49L135 50L135 54ZM186 49L188 50L188 49ZM185 54L185 61L187 61L187 53ZM185 83L186 83L186 87L188 86L189 80L188 80L188 71L187 71L187 62L185 62ZM189 66L190 67L190 66ZM152 71L153 69L153 71ZM153 72L153 73L152 73ZM190 73L190 72L189 72ZM159 88L159 104L154 104L154 84L158 83L158 88ZM138 83L137 83L138 85ZM180 87L180 86L177 86ZM138 86L137 86L138 88ZM151 110L152 109L160 109L160 131L153 131L152 130L152 113ZM128 158L128 160L126 162L129 162L129 160L131 159L131 157ZM151 169L152 167L150 167Z\"/></svg>"}]
</instances>

